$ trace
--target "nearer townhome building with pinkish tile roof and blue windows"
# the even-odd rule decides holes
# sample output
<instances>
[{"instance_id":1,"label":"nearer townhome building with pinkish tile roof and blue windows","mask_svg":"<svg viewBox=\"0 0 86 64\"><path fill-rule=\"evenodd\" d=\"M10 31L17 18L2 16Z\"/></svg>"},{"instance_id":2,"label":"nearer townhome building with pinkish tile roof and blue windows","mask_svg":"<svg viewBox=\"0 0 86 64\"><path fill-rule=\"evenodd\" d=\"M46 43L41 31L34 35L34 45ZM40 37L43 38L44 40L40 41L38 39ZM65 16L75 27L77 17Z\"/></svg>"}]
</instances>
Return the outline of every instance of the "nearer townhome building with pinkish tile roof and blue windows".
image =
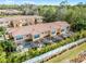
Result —
<instances>
[{"instance_id":1,"label":"nearer townhome building with pinkish tile roof and blue windows","mask_svg":"<svg viewBox=\"0 0 86 64\"><path fill-rule=\"evenodd\" d=\"M12 28L8 30L8 34L10 38L13 38L14 42L21 43L25 40L37 41L47 36L53 37L56 35L67 34L69 30L70 24L66 22L53 22Z\"/></svg>"}]
</instances>

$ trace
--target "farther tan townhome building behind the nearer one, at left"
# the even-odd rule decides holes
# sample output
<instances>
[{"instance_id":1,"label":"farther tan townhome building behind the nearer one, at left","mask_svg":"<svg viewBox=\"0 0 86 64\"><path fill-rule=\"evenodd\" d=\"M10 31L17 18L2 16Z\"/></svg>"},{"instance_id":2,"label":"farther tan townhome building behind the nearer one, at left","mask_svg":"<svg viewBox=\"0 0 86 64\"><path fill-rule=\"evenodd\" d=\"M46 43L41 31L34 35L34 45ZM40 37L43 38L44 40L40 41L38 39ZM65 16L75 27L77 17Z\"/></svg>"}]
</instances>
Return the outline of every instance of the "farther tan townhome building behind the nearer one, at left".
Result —
<instances>
[{"instance_id":1,"label":"farther tan townhome building behind the nearer one, at left","mask_svg":"<svg viewBox=\"0 0 86 64\"><path fill-rule=\"evenodd\" d=\"M15 28L42 23L42 17L37 15L19 15L0 18L0 26Z\"/></svg>"}]
</instances>

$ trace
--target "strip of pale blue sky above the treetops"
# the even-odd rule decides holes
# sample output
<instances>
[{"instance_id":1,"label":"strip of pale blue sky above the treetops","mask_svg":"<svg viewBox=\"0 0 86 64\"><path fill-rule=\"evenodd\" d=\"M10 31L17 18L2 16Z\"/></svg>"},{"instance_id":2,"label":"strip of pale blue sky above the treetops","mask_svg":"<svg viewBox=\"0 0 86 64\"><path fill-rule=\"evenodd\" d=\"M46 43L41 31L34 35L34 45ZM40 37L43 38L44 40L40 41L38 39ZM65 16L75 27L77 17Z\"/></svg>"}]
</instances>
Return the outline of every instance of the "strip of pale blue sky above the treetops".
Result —
<instances>
[{"instance_id":1,"label":"strip of pale blue sky above the treetops","mask_svg":"<svg viewBox=\"0 0 86 64\"><path fill-rule=\"evenodd\" d=\"M0 4L47 4L47 5L58 5L63 0L0 0ZM70 4L76 4L78 2L86 2L86 0L67 0Z\"/></svg>"}]
</instances>

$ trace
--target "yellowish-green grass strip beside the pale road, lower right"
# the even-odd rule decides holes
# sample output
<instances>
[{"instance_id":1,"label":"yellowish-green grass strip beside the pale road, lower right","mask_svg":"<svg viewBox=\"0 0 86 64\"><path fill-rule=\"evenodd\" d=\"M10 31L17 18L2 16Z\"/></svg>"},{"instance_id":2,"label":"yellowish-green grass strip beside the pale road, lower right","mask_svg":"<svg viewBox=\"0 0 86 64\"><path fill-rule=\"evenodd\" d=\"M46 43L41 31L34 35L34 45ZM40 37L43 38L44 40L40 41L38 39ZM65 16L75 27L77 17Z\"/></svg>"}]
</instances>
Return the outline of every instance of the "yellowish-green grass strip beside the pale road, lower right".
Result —
<instances>
[{"instance_id":1,"label":"yellowish-green grass strip beside the pale road, lower right","mask_svg":"<svg viewBox=\"0 0 86 64\"><path fill-rule=\"evenodd\" d=\"M67 62L69 60L74 59L75 56L78 55L79 52L86 50L86 42L75 47L71 50L65 51L61 55L57 55L56 57L52 57L51 60L47 61L46 63L62 63L62 62Z\"/></svg>"}]
</instances>

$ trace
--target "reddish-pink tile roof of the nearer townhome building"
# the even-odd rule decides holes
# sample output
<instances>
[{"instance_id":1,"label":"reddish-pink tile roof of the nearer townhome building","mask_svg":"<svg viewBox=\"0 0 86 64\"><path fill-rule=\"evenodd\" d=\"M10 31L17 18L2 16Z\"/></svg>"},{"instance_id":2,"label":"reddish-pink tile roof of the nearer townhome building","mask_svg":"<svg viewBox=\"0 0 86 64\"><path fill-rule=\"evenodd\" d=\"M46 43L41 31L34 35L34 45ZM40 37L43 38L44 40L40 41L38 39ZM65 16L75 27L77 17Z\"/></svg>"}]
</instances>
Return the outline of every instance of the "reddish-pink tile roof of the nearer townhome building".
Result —
<instances>
[{"instance_id":1,"label":"reddish-pink tile roof of the nearer townhome building","mask_svg":"<svg viewBox=\"0 0 86 64\"><path fill-rule=\"evenodd\" d=\"M12 33L13 36L28 35L28 34L35 35L35 34L52 30L52 28L58 29L65 25L69 24L66 22L44 23L44 24L29 25L19 28L12 28L9 30L9 33Z\"/></svg>"}]
</instances>

